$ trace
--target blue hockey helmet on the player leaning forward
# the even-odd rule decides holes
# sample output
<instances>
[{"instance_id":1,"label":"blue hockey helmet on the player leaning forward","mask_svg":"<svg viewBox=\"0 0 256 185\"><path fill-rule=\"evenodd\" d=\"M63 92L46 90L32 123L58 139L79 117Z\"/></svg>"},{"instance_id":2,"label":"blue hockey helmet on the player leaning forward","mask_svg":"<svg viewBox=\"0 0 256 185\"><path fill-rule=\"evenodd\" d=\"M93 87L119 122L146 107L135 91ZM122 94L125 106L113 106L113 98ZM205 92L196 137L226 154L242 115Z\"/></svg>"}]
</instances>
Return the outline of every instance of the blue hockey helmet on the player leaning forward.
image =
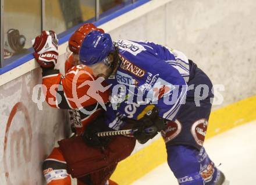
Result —
<instances>
[{"instance_id":1,"label":"blue hockey helmet on the player leaning forward","mask_svg":"<svg viewBox=\"0 0 256 185\"><path fill-rule=\"evenodd\" d=\"M79 59L84 65L94 65L103 61L112 50L113 43L108 33L91 31L81 44Z\"/></svg>"}]
</instances>

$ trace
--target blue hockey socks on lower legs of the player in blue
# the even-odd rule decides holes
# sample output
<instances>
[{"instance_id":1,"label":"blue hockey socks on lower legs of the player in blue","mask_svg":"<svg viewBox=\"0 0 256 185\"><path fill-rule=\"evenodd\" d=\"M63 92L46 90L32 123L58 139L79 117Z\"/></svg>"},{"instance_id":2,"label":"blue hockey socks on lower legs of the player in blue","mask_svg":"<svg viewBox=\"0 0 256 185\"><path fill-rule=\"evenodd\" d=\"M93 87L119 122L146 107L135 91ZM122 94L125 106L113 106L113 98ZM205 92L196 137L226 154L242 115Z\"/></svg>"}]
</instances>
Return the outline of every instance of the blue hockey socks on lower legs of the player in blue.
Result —
<instances>
[{"instance_id":1,"label":"blue hockey socks on lower legs of the player in blue","mask_svg":"<svg viewBox=\"0 0 256 185\"><path fill-rule=\"evenodd\" d=\"M200 151L185 145L169 145L168 165L180 185L214 185L219 170L202 147Z\"/></svg>"}]
</instances>

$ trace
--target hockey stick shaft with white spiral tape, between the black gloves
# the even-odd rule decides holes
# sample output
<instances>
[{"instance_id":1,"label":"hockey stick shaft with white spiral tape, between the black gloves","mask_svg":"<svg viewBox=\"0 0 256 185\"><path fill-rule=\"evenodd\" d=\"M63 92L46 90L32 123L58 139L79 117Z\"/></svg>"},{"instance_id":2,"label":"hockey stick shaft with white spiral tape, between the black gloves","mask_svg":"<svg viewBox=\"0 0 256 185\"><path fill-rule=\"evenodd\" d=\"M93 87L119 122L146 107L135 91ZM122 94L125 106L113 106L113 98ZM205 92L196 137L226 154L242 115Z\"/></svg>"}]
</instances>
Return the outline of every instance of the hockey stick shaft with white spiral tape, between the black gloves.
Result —
<instances>
[{"instance_id":1,"label":"hockey stick shaft with white spiral tape, between the black gloves","mask_svg":"<svg viewBox=\"0 0 256 185\"><path fill-rule=\"evenodd\" d=\"M113 130L113 131L101 131L97 133L98 137L106 137L106 136L127 136L127 137L134 137L133 133L134 131L137 131L138 129L128 129L128 130ZM157 131L157 127L151 126L145 129L145 132L148 134L154 133Z\"/></svg>"}]
</instances>

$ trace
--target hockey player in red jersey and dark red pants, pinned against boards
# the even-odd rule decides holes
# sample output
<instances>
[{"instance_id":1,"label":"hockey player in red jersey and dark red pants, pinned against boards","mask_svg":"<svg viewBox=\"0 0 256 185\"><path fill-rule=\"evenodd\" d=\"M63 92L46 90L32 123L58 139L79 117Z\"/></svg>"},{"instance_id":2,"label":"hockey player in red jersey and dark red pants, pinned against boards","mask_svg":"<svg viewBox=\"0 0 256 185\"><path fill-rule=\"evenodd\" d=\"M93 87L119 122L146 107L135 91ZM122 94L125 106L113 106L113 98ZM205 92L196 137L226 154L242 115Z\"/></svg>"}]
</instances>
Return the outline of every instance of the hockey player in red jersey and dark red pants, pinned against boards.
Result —
<instances>
[{"instance_id":1,"label":"hockey player in red jersey and dark red pants, pinned against boards","mask_svg":"<svg viewBox=\"0 0 256 185\"><path fill-rule=\"evenodd\" d=\"M94 144L96 147L91 147L80 136L84 129L90 129L91 124L98 124L101 131L108 130L102 125L103 122L98 121L102 119L101 106L108 102L107 85L99 81L102 88L97 91L98 98L91 97L93 83L90 82L98 79L92 75L90 68L79 65L78 60L81 42L91 30L104 32L93 24L84 24L70 37L69 49L72 53L65 62L65 76L54 69L58 59L58 40L54 31L42 31L33 41L34 56L42 68L42 84L47 87L44 92L47 102L54 108L69 109L77 134L59 141L59 147L54 148L45 159L43 173L48 185L70 185L70 175L77 178L79 185L114 185L116 183L108 180L109 177L117 163L129 156L135 145L134 138L115 136L101 138ZM84 83L86 81L87 84Z\"/></svg>"}]
</instances>

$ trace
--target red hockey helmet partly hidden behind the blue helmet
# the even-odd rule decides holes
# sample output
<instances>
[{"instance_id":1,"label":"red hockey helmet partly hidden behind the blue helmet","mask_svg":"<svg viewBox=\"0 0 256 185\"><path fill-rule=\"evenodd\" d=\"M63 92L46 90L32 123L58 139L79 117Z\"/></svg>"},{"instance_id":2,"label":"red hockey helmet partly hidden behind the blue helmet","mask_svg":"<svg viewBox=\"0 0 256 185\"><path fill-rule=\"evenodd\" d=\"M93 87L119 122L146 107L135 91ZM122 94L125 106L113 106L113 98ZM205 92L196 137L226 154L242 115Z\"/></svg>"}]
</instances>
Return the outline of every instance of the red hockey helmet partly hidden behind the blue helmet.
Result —
<instances>
[{"instance_id":1,"label":"red hockey helmet partly hidden behind the blue helmet","mask_svg":"<svg viewBox=\"0 0 256 185\"><path fill-rule=\"evenodd\" d=\"M78 55L84 37L86 37L86 35L93 30L105 33L104 30L98 29L92 23L83 24L83 26L79 27L79 29L74 31L74 34L71 35L71 37L69 38L69 50L72 51L74 54Z\"/></svg>"}]
</instances>

